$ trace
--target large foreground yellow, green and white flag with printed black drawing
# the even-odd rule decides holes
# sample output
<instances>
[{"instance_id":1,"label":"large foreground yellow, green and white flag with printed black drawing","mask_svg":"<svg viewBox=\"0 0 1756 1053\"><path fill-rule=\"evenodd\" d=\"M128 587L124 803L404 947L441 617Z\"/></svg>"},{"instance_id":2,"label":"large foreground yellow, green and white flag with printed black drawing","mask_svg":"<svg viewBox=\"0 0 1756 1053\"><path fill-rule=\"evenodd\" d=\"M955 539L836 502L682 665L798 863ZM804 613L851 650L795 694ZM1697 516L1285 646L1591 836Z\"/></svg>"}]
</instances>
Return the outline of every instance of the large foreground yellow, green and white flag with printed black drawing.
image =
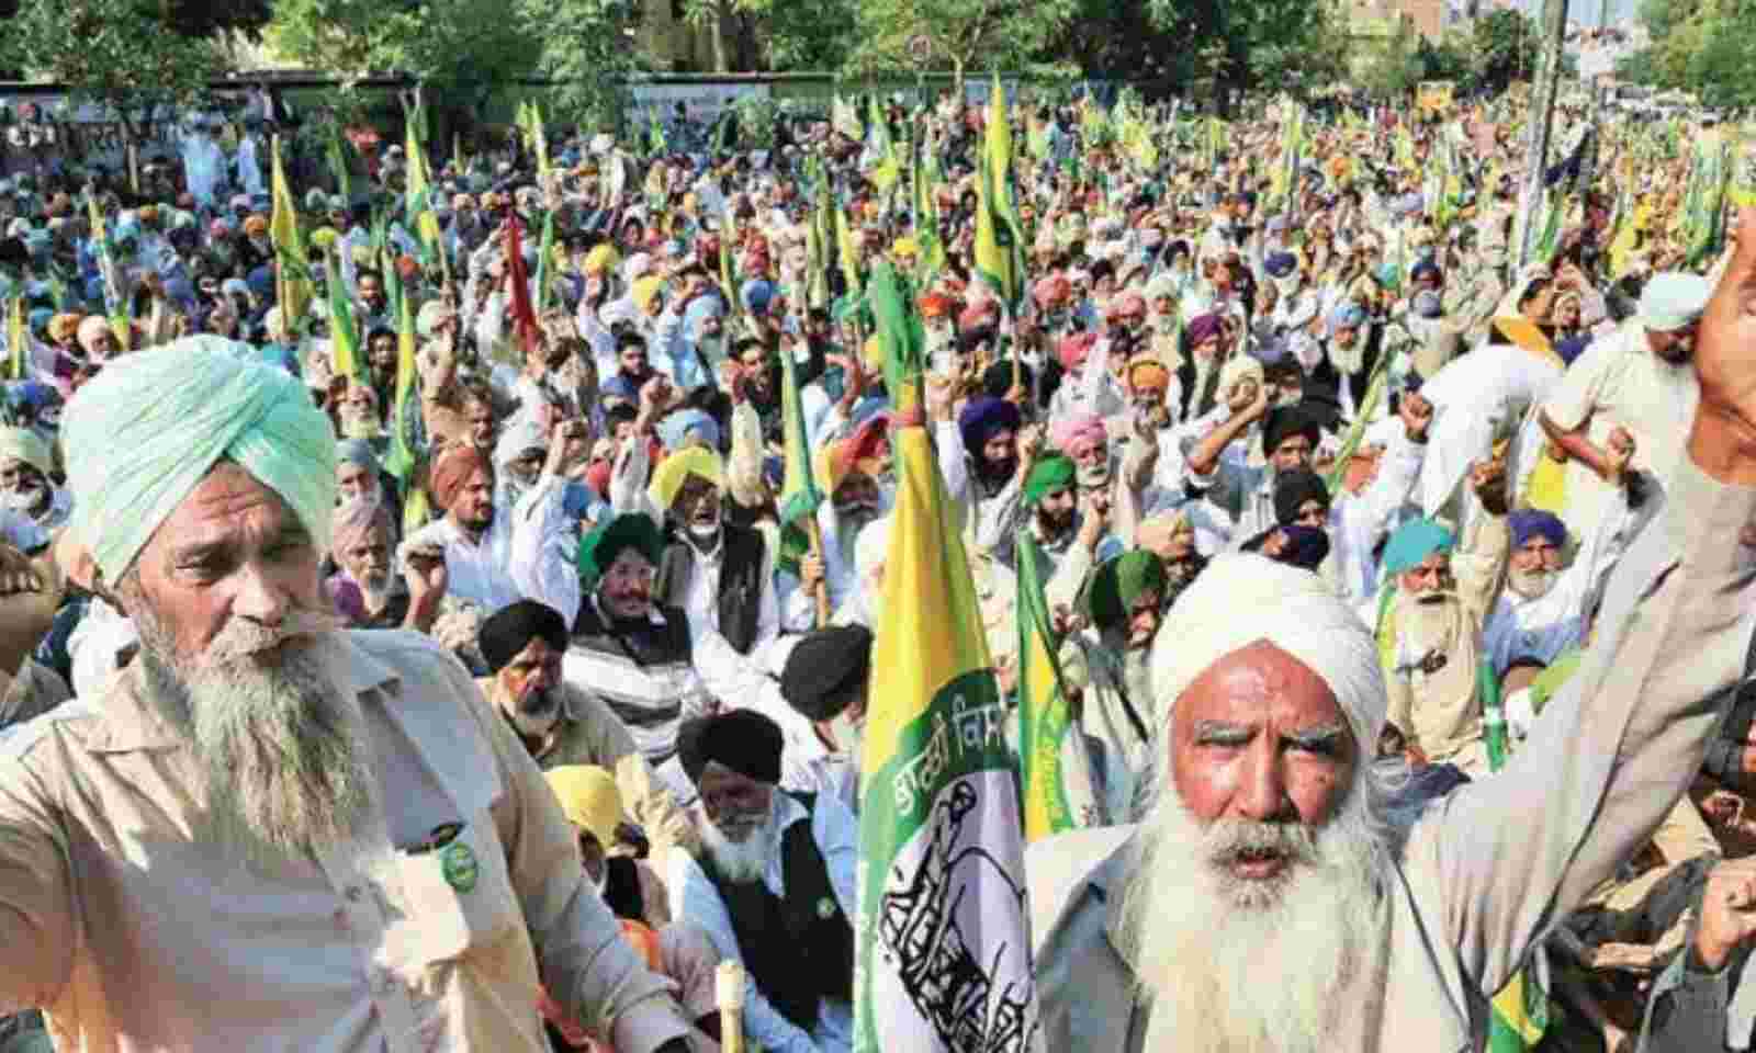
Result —
<instances>
[{"instance_id":1,"label":"large foreground yellow, green and white flag with printed black drawing","mask_svg":"<svg viewBox=\"0 0 1756 1053\"><path fill-rule=\"evenodd\" d=\"M860 765L853 1053L1013 1048L1038 1020L1004 707L957 511L917 416L918 323L887 261L869 297L908 383Z\"/></svg>"}]
</instances>

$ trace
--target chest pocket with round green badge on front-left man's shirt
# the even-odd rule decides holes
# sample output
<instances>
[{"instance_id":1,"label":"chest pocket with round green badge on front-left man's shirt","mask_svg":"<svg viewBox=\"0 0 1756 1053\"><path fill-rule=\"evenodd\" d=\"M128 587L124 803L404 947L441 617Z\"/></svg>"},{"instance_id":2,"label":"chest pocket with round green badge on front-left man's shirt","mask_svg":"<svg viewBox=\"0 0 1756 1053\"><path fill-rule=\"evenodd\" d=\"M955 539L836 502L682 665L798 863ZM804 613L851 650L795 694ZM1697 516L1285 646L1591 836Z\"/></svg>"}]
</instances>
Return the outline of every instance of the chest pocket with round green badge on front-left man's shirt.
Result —
<instances>
[{"instance_id":1,"label":"chest pocket with round green badge on front-left man's shirt","mask_svg":"<svg viewBox=\"0 0 1756 1053\"><path fill-rule=\"evenodd\" d=\"M523 925L492 818L465 823L443 848L397 853L414 967L467 958Z\"/></svg>"}]
</instances>

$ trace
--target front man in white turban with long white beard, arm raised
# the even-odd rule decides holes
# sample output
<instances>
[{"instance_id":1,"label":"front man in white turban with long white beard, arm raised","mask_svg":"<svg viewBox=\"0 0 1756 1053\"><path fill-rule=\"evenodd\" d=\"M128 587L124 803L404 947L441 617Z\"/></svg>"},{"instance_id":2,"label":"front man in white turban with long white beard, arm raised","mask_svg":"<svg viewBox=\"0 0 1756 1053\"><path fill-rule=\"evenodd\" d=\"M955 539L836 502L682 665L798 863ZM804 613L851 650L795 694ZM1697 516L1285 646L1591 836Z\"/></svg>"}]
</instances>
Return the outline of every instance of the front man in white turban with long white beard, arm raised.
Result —
<instances>
[{"instance_id":1,"label":"front man in white turban with long white beard, arm raised","mask_svg":"<svg viewBox=\"0 0 1756 1053\"><path fill-rule=\"evenodd\" d=\"M1756 209L1744 230L1670 500L1494 777L1398 820L1356 614L1249 555L1182 595L1154 644L1150 813L1027 858L1050 1049L1482 1048L1489 997L1652 835L1731 706L1752 628Z\"/></svg>"}]
</instances>

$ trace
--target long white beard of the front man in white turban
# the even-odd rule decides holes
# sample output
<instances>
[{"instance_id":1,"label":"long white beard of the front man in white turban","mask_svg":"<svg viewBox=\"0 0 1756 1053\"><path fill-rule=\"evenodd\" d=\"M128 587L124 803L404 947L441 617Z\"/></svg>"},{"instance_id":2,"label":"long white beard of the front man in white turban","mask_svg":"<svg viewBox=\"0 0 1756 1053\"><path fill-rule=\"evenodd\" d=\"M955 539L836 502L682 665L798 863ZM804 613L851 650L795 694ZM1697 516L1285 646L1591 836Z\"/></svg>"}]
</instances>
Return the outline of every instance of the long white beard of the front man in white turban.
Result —
<instances>
[{"instance_id":1,"label":"long white beard of the front man in white turban","mask_svg":"<svg viewBox=\"0 0 1756 1053\"><path fill-rule=\"evenodd\" d=\"M1321 828L1219 820L1206 828L1166 779L1141 823L1122 900L1122 956L1152 999L1155 1053L1315 1053L1359 1027L1384 955L1391 853L1361 769ZM1271 881L1229 870L1240 849L1277 849Z\"/></svg>"}]
</instances>

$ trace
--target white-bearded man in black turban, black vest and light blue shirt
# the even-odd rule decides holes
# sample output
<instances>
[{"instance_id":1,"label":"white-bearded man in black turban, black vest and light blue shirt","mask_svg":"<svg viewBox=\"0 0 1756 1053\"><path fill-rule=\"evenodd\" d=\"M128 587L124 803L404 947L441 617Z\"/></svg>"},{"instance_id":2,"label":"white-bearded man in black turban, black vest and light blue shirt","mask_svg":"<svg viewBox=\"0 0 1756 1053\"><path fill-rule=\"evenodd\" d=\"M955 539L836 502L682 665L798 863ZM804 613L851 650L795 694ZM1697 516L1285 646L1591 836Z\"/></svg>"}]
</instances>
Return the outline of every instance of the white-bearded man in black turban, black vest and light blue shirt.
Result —
<instances>
[{"instance_id":1,"label":"white-bearded man in black turban, black vest and light blue shirt","mask_svg":"<svg viewBox=\"0 0 1756 1053\"><path fill-rule=\"evenodd\" d=\"M836 793L780 790L785 737L753 709L690 720L676 741L701 793L704 851L671 856L671 916L750 972L752 1041L773 1053L845 1053L859 821Z\"/></svg>"}]
</instances>

